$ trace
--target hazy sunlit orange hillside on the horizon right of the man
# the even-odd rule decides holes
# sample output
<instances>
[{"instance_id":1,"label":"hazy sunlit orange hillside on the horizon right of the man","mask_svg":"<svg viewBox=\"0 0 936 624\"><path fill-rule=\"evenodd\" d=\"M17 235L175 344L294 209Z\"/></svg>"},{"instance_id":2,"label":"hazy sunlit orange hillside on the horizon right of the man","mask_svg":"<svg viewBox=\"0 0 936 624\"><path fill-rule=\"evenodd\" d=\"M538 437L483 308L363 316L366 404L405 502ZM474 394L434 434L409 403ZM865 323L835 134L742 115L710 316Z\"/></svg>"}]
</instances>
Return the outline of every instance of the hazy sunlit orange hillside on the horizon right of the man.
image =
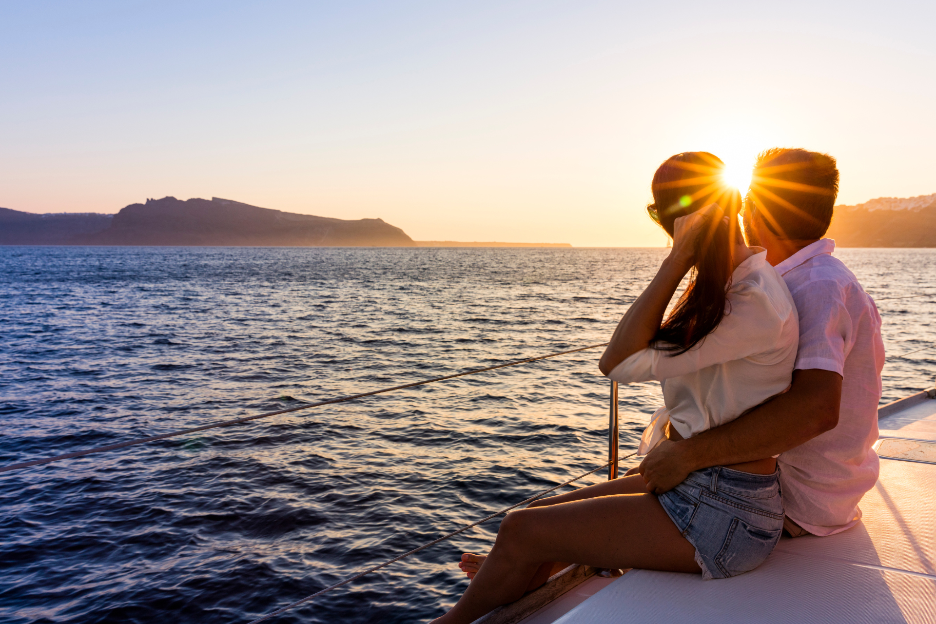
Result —
<instances>
[{"instance_id":1,"label":"hazy sunlit orange hillside on the horizon right of the man","mask_svg":"<svg viewBox=\"0 0 936 624\"><path fill-rule=\"evenodd\" d=\"M826 237L839 247L936 247L936 194L836 206Z\"/></svg>"}]
</instances>

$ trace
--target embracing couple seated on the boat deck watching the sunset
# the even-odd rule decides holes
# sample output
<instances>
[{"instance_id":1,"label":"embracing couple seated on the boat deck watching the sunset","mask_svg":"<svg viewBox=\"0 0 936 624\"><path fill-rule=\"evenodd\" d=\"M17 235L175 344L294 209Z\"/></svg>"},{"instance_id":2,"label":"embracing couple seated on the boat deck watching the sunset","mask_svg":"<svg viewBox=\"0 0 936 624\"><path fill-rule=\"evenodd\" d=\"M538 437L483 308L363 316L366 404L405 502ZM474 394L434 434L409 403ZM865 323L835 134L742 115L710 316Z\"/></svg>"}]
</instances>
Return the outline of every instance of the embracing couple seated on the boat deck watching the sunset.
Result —
<instances>
[{"instance_id":1,"label":"embracing couple seated on the boat deck watching the sunset","mask_svg":"<svg viewBox=\"0 0 936 624\"><path fill-rule=\"evenodd\" d=\"M743 199L723 170L708 152L656 170L647 210L673 246L598 365L622 384L661 383L646 457L506 515L487 557L462 556L472 582L435 622L471 622L571 562L727 578L763 563L784 530L832 535L860 519L878 476L884 343L874 301L823 238L835 160L763 152Z\"/></svg>"}]
</instances>

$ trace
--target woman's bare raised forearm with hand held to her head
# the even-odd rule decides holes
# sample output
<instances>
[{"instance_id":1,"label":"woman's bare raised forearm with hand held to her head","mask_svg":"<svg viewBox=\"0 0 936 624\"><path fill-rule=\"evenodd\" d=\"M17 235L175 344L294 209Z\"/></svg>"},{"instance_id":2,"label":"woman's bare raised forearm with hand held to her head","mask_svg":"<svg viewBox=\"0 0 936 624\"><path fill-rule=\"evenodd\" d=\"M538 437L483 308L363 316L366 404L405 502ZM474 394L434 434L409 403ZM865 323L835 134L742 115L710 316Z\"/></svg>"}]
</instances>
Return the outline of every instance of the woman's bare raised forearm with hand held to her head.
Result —
<instances>
[{"instance_id":1,"label":"woman's bare raised forearm with hand held to her head","mask_svg":"<svg viewBox=\"0 0 936 624\"><path fill-rule=\"evenodd\" d=\"M680 217L673 227L673 248L660 265L646 290L624 314L614 330L598 369L605 375L636 352L650 346L653 336L663 323L663 314L682 278L695 264L695 239L705 223L705 217L718 204L709 204L702 210ZM712 215L717 218L717 215Z\"/></svg>"}]
</instances>

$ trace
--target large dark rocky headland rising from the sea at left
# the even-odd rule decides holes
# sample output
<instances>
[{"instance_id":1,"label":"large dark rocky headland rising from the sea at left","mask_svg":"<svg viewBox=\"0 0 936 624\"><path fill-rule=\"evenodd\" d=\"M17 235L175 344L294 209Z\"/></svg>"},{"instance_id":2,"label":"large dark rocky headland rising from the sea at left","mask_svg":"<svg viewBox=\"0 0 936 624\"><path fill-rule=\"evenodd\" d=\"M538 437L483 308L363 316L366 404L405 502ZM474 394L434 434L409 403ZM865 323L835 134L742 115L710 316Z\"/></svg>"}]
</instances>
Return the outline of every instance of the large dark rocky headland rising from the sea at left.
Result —
<instances>
[{"instance_id":1,"label":"large dark rocky headland rising from the sea at left","mask_svg":"<svg viewBox=\"0 0 936 624\"><path fill-rule=\"evenodd\" d=\"M24 223L46 217L62 217L66 221L68 217L76 216L37 215L16 210L7 212L15 213L13 221L20 219ZM5 233L0 239L2 244L415 246L413 239L402 229L381 219L330 219L258 208L218 197L187 201L175 197L147 199L145 204L131 204L112 217L94 215L100 218L99 221L106 218L106 223L101 221L103 225L99 227L89 225L83 229L72 229L67 237L43 234L46 239L42 241L38 235L30 238L14 232L6 236L4 216L0 214L0 225Z\"/></svg>"}]
</instances>

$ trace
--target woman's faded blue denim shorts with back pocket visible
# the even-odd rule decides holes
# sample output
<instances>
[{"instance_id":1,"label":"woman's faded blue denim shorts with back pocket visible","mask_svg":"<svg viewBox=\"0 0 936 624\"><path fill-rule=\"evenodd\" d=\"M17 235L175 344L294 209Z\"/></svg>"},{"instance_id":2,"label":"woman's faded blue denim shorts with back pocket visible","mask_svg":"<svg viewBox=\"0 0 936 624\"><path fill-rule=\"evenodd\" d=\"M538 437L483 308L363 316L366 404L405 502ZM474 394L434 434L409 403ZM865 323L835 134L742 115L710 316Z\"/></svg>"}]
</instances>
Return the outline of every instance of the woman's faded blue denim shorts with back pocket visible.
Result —
<instances>
[{"instance_id":1,"label":"woman's faded blue denim shorts with back pocket visible","mask_svg":"<svg viewBox=\"0 0 936 624\"><path fill-rule=\"evenodd\" d=\"M695 546L702 578L746 573L767 559L783 532L780 469L773 474L723 466L690 472L660 504Z\"/></svg>"}]
</instances>

